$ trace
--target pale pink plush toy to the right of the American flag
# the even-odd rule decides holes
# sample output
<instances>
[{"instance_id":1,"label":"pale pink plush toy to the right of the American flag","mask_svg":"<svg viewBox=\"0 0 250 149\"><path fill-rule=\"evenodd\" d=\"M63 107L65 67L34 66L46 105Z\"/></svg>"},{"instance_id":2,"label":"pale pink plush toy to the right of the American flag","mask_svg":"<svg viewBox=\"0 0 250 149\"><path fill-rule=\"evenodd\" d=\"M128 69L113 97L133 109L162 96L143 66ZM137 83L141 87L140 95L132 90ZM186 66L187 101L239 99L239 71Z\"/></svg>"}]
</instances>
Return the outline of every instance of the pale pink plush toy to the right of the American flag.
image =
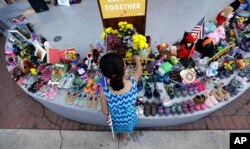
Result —
<instances>
[{"instance_id":1,"label":"pale pink plush toy to the right of the American flag","mask_svg":"<svg viewBox=\"0 0 250 149\"><path fill-rule=\"evenodd\" d=\"M214 30L214 32L208 34L208 38L214 40L218 44L221 39L226 39L225 28L223 26L219 26Z\"/></svg>"}]
</instances>

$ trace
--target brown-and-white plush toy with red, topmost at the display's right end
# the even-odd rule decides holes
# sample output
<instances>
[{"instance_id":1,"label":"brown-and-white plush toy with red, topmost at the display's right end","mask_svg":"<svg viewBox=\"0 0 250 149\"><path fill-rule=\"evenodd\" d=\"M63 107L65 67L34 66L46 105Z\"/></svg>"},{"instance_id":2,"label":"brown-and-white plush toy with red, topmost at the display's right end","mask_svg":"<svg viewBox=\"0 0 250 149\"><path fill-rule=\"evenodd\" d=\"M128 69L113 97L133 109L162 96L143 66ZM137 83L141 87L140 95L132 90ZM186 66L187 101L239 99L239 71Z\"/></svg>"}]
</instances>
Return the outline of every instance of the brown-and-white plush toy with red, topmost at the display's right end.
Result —
<instances>
[{"instance_id":1,"label":"brown-and-white plush toy with red, topmost at the display's right end","mask_svg":"<svg viewBox=\"0 0 250 149\"><path fill-rule=\"evenodd\" d=\"M233 17L234 8L232 6L227 6L224 8L216 17L218 26L226 26L228 24L228 20Z\"/></svg>"}]
</instances>

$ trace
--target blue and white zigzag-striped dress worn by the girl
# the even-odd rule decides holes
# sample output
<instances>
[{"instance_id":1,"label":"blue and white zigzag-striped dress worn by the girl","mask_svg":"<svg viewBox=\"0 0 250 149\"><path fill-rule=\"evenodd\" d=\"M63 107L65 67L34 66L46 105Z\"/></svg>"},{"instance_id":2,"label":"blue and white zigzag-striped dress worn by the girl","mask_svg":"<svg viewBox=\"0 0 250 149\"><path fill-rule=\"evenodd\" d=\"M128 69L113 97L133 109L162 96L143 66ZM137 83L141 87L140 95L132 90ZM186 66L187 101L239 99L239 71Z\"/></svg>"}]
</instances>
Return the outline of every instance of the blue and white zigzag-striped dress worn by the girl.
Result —
<instances>
[{"instance_id":1,"label":"blue and white zigzag-striped dress worn by the girl","mask_svg":"<svg viewBox=\"0 0 250 149\"><path fill-rule=\"evenodd\" d=\"M132 81L132 87L129 92L124 94L113 94L108 86L103 88L115 133L132 133L137 125L138 119L135 109L135 102L138 96L137 83L134 77L130 77L130 80Z\"/></svg>"}]
</instances>

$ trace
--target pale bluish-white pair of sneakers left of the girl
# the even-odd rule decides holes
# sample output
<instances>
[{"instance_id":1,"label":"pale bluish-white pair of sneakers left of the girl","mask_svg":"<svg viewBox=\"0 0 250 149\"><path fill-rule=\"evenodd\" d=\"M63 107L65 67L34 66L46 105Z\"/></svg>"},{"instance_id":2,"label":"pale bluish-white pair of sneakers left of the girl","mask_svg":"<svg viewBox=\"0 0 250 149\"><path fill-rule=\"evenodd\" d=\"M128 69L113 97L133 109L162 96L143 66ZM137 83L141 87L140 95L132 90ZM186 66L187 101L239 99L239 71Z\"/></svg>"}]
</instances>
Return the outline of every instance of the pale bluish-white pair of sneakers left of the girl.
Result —
<instances>
[{"instance_id":1,"label":"pale bluish-white pair of sneakers left of the girl","mask_svg":"<svg viewBox=\"0 0 250 149\"><path fill-rule=\"evenodd\" d=\"M69 89L72 87L74 80L75 75L73 73L65 73L58 83L58 88Z\"/></svg>"}]
</instances>

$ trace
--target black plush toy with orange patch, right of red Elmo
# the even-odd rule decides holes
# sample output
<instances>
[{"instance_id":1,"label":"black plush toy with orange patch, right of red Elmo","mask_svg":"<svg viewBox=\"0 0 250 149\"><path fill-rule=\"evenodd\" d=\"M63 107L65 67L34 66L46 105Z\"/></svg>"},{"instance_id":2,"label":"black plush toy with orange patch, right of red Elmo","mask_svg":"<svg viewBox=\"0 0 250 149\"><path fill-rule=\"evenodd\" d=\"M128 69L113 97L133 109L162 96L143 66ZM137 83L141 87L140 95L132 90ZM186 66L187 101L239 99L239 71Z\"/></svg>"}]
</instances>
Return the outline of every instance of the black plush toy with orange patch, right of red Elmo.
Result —
<instances>
[{"instance_id":1,"label":"black plush toy with orange patch, right of red Elmo","mask_svg":"<svg viewBox=\"0 0 250 149\"><path fill-rule=\"evenodd\" d=\"M216 53L216 42L208 37L199 39L196 43L196 50L202 54L202 57L213 57Z\"/></svg>"}]
</instances>

